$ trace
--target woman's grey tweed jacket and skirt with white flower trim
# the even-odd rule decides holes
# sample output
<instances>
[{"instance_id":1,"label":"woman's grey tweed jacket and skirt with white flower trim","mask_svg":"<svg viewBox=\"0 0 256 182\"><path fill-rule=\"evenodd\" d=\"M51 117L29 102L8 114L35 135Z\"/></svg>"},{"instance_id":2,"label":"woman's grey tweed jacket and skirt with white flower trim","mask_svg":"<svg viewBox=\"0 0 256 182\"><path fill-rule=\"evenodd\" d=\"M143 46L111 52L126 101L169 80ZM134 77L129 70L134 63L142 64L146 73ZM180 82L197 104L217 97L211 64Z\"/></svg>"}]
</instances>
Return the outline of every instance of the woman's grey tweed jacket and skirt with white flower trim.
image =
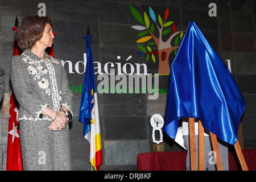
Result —
<instances>
[{"instance_id":1,"label":"woman's grey tweed jacket and skirt with white flower trim","mask_svg":"<svg viewBox=\"0 0 256 182\"><path fill-rule=\"evenodd\" d=\"M11 82L19 102L19 129L24 170L71 170L69 127L61 131L48 129L52 119L43 116L48 106L59 111L61 105L72 113L72 92L65 69L59 59L44 52L46 60L23 51L13 56Z\"/></svg>"}]
</instances>

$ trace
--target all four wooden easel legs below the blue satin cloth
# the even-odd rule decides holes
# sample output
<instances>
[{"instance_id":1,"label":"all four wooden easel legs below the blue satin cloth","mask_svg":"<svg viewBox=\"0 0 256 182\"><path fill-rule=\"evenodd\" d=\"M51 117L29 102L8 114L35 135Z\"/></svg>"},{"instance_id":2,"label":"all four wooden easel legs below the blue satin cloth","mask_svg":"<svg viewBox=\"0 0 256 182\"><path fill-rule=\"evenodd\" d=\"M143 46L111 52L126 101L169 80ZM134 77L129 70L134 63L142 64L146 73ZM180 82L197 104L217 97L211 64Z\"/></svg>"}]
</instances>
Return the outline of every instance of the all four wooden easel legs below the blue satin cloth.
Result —
<instances>
[{"instance_id":1,"label":"all four wooden easel legs below the blue satin cloth","mask_svg":"<svg viewBox=\"0 0 256 182\"><path fill-rule=\"evenodd\" d=\"M197 164L196 164L196 142L195 142L195 118L189 118L188 119L188 128L189 128L189 150L190 150L190 163L191 163L191 171L197 170ZM204 127L199 120L199 171L204 171ZM218 143L217 143L217 137L215 134L210 132L210 140L212 141L212 147L213 151L216 152L216 166L218 171L223 171L222 163L221 163L221 156L220 151L218 150ZM238 143L238 140L236 144L234 144L234 147L237 152L237 156L239 159L239 162L241 164L243 171L248 171L247 164L245 162L245 158L243 157L243 153L240 147L240 144Z\"/></svg>"}]
</instances>

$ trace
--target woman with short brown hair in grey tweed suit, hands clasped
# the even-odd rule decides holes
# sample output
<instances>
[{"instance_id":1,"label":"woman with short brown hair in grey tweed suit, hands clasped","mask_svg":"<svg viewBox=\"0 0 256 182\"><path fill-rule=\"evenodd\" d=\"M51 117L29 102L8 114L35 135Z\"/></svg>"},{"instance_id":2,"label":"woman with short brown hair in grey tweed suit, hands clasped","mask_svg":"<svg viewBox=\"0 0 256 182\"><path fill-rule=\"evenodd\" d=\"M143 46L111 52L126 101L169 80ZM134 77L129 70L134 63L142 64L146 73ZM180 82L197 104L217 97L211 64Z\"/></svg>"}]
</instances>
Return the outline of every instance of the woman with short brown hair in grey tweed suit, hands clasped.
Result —
<instances>
[{"instance_id":1,"label":"woman with short brown hair in grey tweed suit, hands clasped","mask_svg":"<svg viewBox=\"0 0 256 182\"><path fill-rule=\"evenodd\" d=\"M51 20L39 16L23 18L15 34L24 50L11 65L24 170L71 170L67 122L73 94L60 60L45 52L53 38Z\"/></svg>"}]
</instances>

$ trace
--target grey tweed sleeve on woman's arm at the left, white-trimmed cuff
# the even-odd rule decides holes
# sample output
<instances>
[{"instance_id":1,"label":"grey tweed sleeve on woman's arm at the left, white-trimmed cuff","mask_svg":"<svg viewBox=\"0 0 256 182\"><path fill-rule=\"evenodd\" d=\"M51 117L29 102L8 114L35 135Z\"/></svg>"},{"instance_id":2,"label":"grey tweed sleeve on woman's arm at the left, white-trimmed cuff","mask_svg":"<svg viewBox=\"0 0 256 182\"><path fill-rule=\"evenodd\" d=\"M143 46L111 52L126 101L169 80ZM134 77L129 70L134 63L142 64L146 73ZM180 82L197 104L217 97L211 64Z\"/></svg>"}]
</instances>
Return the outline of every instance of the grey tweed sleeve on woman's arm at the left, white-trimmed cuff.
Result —
<instances>
[{"instance_id":1,"label":"grey tweed sleeve on woman's arm at the left, white-trimmed cuff","mask_svg":"<svg viewBox=\"0 0 256 182\"><path fill-rule=\"evenodd\" d=\"M34 121L37 121L48 105L36 97L36 90L31 89L31 78L27 67L28 65L22 61L20 56L13 56L10 71L11 83L19 106L30 113Z\"/></svg>"}]
</instances>

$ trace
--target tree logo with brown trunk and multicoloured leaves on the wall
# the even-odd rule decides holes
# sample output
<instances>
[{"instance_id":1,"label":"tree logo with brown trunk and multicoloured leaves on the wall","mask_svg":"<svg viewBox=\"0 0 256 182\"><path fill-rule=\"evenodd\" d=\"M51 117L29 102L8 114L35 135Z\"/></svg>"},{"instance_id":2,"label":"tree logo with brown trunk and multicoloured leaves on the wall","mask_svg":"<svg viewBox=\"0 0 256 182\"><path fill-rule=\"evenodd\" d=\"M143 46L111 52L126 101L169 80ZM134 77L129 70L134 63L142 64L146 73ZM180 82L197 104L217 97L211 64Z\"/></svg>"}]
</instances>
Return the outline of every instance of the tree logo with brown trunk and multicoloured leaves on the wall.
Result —
<instances>
[{"instance_id":1,"label":"tree logo with brown trunk and multicoloured leaves on the wall","mask_svg":"<svg viewBox=\"0 0 256 182\"><path fill-rule=\"evenodd\" d=\"M156 62L155 55L159 57L159 67L158 67L158 73L159 75L169 75L170 74L170 65L169 65L169 57L172 52L174 52L174 55L177 53L177 49L179 48L178 44L180 40L183 38L183 31L177 31L174 21L168 21L168 16L170 13L169 8L166 9L164 12L164 19L158 15L158 23L156 20L156 15L154 10L152 10L151 7L148 8L149 15L152 20L152 23L150 23L150 19L148 18L148 15L146 12L144 12L144 18L142 18L141 14L130 5L130 10L133 16L138 20L141 25L135 25L131 26L135 30L140 30L140 32L137 36L140 37L136 43L138 48L142 52L137 52L138 55L146 55L146 62L148 60ZM154 35L155 31L155 25L158 28L159 36L157 37ZM170 35L170 33L172 33ZM167 39L166 42L162 40L163 36L170 35L170 37ZM152 42L151 40L154 40ZM174 39L174 45L172 46L172 39ZM146 43L146 47L143 47L140 43ZM152 50L151 46L156 45L157 50Z\"/></svg>"}]
</instances>

